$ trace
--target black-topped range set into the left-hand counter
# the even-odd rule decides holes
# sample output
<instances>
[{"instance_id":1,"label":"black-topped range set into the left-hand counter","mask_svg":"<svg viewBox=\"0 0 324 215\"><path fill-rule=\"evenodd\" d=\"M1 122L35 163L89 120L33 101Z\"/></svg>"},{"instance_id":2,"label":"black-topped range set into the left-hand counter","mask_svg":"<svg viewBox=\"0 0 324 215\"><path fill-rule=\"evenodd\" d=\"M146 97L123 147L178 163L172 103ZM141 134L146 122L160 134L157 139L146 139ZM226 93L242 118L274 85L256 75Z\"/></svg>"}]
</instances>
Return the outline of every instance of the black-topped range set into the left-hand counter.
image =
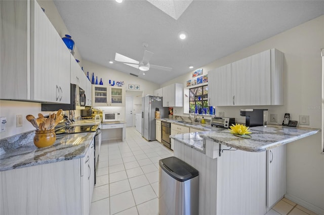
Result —
<instances>
[{"instance_id":1,"label":"black-topped range set into the left-hand counter","mask_svg":"<svg viewBox=\"0 0 324 215\"><path fill-rule=\"evenodd\" d=\"M83 125L83 126L63 126L60 128L55 129L56 135L61 134L74 134L74 133L84 133L84 132L96 132L96 135L94 137L94 151L95 151L95 176L97 177L97 169L99 164L99 154L100 154L100 148L101 148L101 129L99 125ZM96 177L95 177L95 184L96 184Z\"/></svg>"}]
</instances>

